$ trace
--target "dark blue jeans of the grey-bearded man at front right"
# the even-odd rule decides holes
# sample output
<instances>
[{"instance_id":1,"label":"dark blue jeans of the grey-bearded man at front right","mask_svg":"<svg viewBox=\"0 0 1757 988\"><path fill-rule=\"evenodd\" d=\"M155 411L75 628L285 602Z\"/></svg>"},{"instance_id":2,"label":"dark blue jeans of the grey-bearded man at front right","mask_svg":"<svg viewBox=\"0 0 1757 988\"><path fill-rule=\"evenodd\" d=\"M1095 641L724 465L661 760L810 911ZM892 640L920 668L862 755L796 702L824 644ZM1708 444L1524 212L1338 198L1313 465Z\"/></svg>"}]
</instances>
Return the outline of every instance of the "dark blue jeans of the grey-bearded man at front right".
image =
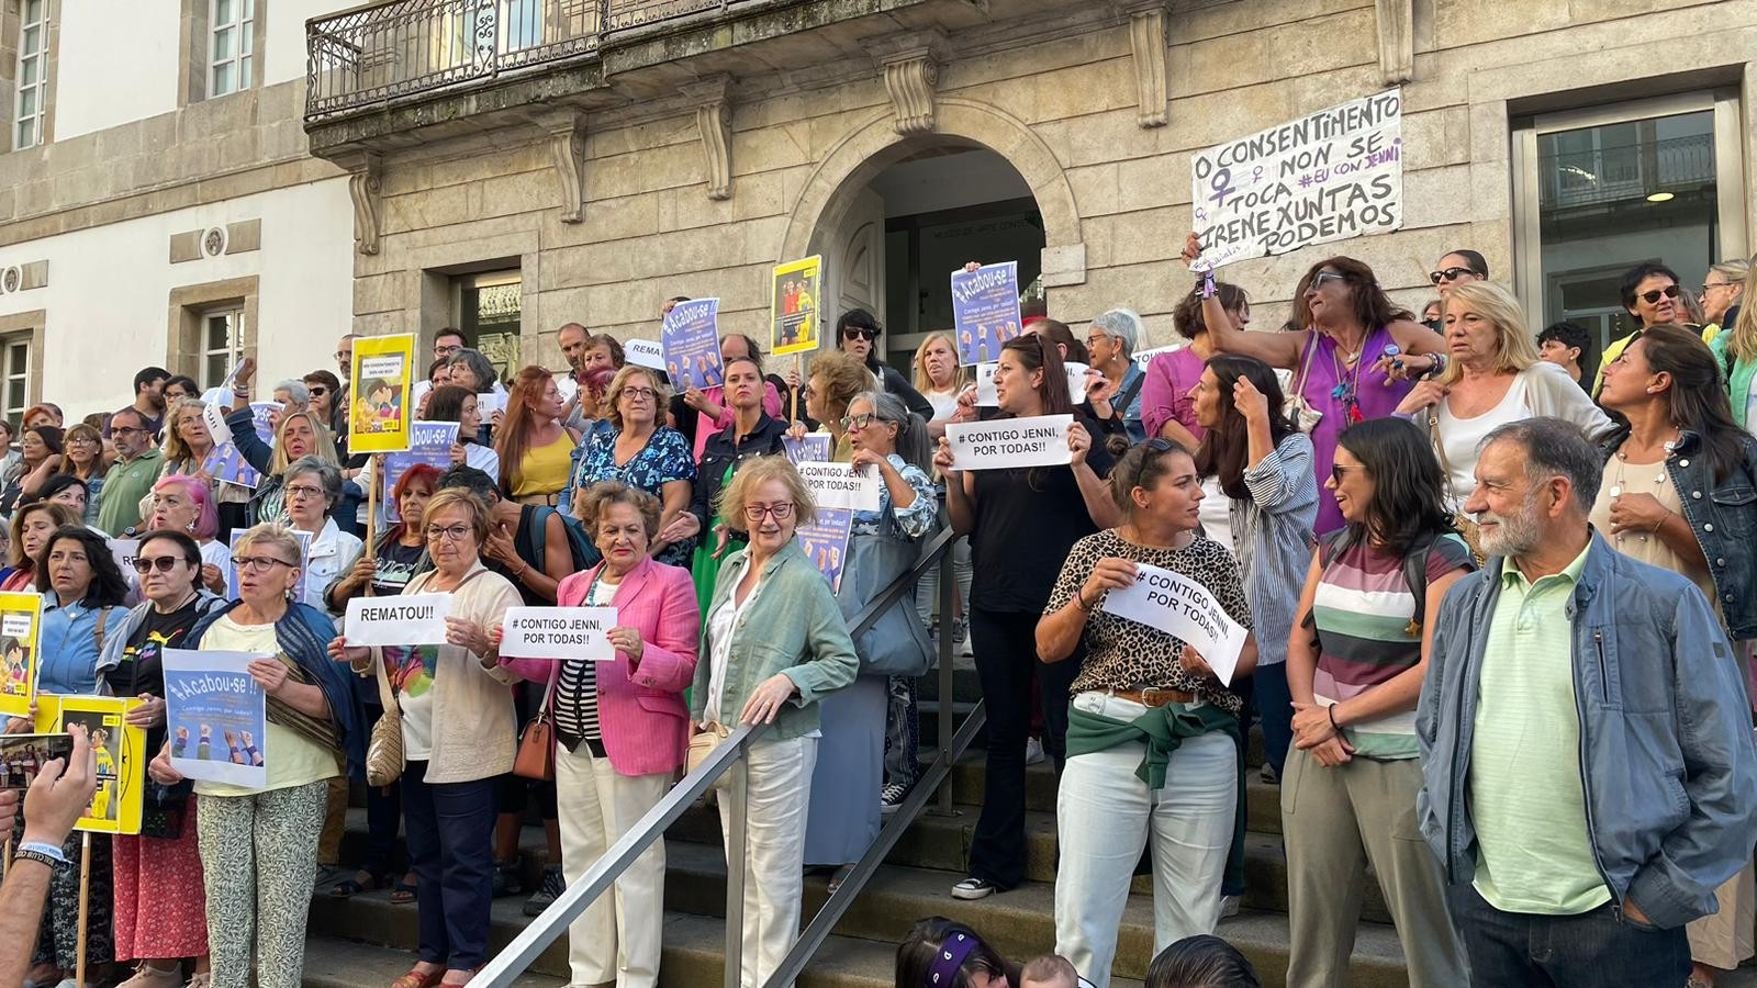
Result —
<instances>
[{"instance_id":1,"label":"dark blue jeans of the grey-bearded man at front right","mask_svg":"<svg viewBox=\"0 0 1757 988\"><path fill-rule=\"evenodd\" d=\"M1448 886L1446 898L1472 988L1667 988L1690 976L1683 926L1638 926L1609 902L1580 916L1537 916L1502 912L1471 884Z\"/></svg>"}]
</instances>

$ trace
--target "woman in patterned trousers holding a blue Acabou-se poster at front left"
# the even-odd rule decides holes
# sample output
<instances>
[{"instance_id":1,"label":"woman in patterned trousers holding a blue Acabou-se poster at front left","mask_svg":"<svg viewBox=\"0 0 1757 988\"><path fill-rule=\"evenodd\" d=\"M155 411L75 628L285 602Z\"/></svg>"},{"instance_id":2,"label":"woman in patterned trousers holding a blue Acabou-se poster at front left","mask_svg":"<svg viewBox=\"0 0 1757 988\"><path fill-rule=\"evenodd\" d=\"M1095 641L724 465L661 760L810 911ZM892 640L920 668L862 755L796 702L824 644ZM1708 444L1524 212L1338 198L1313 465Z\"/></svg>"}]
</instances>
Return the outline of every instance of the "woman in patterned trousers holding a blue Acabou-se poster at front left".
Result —
<instances>
[{"instance_id":1,"label":"woman in patterned trousers holding a blue Acabou-se poster at front left","mask_svg":"<svg viewBox=\"0 0 1757 988\"><path fill-rule=\"evenodd\" d=\"M353 686L329 654L336 626L293 599L299 556L299 538L285 526L246 531L237 540L239 599L207 612L186 638L195 650L271 656L248 666L267 694L267 782L195 782L211 988L246 988L251 967L260 988L300 983L330 779L364 772ZM163 786L183 781L170 745L148 772Z\"/></svg>"}]
</instances>

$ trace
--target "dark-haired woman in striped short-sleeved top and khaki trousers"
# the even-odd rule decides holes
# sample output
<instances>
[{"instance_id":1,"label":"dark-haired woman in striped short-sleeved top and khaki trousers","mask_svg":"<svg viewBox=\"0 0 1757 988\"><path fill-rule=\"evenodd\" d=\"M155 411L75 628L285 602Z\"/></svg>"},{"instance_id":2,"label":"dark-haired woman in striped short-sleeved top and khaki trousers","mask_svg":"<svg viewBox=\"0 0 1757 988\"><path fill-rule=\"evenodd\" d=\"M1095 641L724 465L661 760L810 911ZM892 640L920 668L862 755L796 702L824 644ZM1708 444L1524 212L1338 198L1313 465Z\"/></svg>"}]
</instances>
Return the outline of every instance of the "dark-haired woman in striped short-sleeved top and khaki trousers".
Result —
<instances>
[{"instance_id":1,"label":"dark-haired woman in striped short-sleeved top and khaki trousers","mask_svg":"<svg viewBox=\"0 0 1757 988\"><path fill-rule=\"evenodd\" d=\"M1348 526L1320 540L1288 643L1288 984L1348 981L1369 863L1397 923L1409 984L1464 984L1439 861L1416 826L1414 710L1439 603L1474 563L1453 531L1439 461L1413 422L1351 425L1325 487Z\"/></svg>"}]
</instances>

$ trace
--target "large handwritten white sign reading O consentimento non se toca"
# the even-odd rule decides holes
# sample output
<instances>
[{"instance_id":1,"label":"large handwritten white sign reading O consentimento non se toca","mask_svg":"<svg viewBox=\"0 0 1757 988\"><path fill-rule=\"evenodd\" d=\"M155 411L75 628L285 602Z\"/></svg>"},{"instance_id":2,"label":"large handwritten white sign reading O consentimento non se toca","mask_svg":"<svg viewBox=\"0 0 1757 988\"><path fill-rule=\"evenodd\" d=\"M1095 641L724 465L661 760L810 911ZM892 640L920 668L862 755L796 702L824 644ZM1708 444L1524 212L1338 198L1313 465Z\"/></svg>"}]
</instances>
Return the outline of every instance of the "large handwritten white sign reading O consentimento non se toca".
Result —
<instances>
[{"instance_id":1,"label":"large handwritten white sign reading O consentimento non se toca","mask_svg":"<svg viewBox=\"0 0 1757 988\"><path fill-rule=\"evenodd\" d=\"M1189 158L1197 271L1404 225L1402 90Z\"/></svg>"}]
</instances>

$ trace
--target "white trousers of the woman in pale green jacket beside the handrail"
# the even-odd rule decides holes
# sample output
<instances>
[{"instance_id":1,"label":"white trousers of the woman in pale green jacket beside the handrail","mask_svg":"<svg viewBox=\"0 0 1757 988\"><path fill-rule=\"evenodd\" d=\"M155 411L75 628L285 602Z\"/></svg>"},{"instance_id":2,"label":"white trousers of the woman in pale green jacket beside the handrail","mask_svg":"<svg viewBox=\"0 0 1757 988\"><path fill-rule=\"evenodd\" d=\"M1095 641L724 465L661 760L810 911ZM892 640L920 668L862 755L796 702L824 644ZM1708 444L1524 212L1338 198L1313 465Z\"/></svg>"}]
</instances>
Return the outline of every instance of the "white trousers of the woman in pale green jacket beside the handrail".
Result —
<instances>
[{"instance_id":1,"label":"white trousers of the woman in pale green jacket beside the handrail","mask_svg":"<svg viewBox=\"0 0 1757 988\"><path fill-rule=\"evenodd\" d=\"M738 983L761 988L799 939L805 819L812 803L817 738L759 740L750 745L745 761L745 923ZM731 798L720 793L719 803L726 833L731 830ZM731 858L731 847L726 854Z\"/></svg>"}]
</instances>

